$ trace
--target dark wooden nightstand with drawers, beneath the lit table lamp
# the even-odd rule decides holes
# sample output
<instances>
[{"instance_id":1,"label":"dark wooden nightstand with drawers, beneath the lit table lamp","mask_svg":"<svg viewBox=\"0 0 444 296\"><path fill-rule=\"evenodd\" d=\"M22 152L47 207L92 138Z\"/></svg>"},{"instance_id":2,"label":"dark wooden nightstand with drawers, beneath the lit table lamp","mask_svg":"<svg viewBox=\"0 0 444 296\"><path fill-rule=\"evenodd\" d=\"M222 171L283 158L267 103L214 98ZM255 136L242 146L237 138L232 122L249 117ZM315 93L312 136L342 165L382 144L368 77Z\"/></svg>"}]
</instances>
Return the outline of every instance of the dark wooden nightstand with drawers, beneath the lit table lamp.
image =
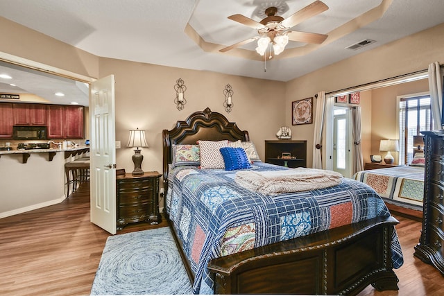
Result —
<instances>
[{"instance_id":1,"label":"dark wooden nightstand with drawers, beneath the lit table lamp","mask_svg":"<svg viewBox=\"0 0 444 296\"><path fill-rule=\"evenodd\" d=\"M159 172L117 175L117 229L139 221L162 222L159 213Z\"/></svg>"}]
</instances>

